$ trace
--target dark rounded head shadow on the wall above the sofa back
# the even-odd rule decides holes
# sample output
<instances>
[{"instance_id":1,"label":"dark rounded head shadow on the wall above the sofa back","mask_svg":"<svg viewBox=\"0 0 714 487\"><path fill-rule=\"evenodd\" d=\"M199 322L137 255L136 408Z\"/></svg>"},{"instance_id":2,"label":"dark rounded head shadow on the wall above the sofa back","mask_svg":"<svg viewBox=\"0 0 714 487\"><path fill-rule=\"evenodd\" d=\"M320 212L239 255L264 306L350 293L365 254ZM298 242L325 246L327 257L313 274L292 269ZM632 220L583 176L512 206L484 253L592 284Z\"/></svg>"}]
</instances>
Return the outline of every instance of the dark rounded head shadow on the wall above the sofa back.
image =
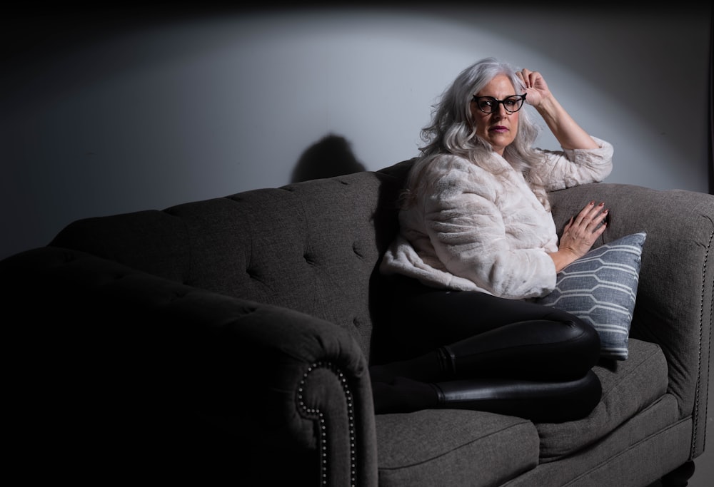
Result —
<instances>
[{"instance_id":1,"label":"dark rounded head shadow on the wall above the sofa back","mask_svg":"<svg viewBox=\"0 0 714 487\"><path fill-rule=\"evenodd\" d=\"M332 178L365 170L352 153L348 140L328 134L308 147L300 156L291 183L319 178Z\"/></svg>"}]
</instances>

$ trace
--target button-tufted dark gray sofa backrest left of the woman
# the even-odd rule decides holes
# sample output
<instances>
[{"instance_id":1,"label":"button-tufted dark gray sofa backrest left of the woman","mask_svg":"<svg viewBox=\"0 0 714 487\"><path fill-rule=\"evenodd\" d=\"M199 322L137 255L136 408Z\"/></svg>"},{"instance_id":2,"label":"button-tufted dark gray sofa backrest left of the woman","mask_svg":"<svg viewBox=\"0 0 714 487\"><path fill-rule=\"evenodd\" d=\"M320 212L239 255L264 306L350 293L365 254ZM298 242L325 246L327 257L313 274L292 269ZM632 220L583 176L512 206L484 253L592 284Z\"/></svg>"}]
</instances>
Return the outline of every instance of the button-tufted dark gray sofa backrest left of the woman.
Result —
<instances>
[{"instance_id":1,"label":"button-tufted dark gray sofa backrest left of the woman","mask_svg":"<svg viewBox=\"0 0 714 487\"><path fill-rule=\"evenodd\" d=\"M378 261L398 230L401 163L378 172L78 220L50 245L343 327L370 356L388 289Z\"/></svg>"}]
</instances>

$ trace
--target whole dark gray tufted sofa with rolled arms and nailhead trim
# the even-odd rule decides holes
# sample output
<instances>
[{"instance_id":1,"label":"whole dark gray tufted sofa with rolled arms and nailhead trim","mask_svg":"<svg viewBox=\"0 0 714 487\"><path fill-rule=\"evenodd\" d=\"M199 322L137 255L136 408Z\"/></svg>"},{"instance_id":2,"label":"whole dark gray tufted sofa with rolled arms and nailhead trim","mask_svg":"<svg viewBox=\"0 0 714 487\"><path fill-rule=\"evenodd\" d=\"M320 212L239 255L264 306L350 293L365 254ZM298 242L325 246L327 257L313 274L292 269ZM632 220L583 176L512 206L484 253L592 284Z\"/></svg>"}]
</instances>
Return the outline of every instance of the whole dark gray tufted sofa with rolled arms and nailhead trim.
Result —
<instances>
[{"instance_id":1,"label":"whole dark gray tufted sofa with rolled arms and nailhead trim","mask_svg":"<svg viewBox=\"0 0 714 487\"><path fill-rule=\"evenodd\" d=\"M1 261L6 463L79 485L685 485L705 448L714 196L550 195L559 228L607 203L598 245L648 232L630 357L596 367L587 418L375 415L368 364L399 348L377 268L409 165L79 220Z\"/></svg>"}]
</instances>

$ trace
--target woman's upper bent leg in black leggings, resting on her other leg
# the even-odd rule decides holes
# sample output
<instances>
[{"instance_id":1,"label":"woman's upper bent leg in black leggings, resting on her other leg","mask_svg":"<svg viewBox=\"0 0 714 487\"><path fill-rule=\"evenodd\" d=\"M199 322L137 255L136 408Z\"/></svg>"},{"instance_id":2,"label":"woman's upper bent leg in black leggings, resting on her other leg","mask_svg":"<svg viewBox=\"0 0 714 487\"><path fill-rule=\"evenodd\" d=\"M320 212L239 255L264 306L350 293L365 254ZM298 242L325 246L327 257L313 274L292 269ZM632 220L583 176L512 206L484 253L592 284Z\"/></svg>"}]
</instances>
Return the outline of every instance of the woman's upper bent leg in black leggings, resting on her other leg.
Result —
<instances>
[{"instance_id":1,"label":"woman's upper bent leg in black leggings, resting on her other leg","mask_svg":"<svg viewBox=\"0 0 714 487\"><path fill-rule=\"evenodd\" d=\"M372 366L375 381L388 383L395 376L430 382L570 380L582 377L600 356L595 329L566 312L480 292L408 284L411 292L395 302L393 342L414 358Z\"/></svg>"}]
</instances>

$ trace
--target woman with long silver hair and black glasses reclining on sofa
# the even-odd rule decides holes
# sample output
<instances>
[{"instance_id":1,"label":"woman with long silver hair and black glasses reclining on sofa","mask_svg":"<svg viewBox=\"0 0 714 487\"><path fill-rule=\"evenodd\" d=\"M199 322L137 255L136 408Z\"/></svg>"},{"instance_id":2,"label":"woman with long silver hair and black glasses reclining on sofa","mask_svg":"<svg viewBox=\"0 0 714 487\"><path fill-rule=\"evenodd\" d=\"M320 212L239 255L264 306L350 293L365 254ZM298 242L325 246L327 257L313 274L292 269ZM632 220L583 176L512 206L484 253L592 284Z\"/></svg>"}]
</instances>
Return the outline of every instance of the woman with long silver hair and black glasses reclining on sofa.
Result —
<instances>
[{"instance_id":1,"label":"woman with long silver hair and black glasses reclining on sofa","mask_svg":"<svg viewBox=\"0 0 714 487\"><path fill-rule=\"evenodd\" d=\"M524 103L562 150L533 147L540 128ZM411 358L371 366L376 412L586 416L601 394L598 334L531 298L590 250L608 213L588 203L558 240L547 192L603 180L613 148L575 123L540 73L495 58L463 70L434 108L381 265L398 289L391 332Z\"/></svg>"}]
</instances>

